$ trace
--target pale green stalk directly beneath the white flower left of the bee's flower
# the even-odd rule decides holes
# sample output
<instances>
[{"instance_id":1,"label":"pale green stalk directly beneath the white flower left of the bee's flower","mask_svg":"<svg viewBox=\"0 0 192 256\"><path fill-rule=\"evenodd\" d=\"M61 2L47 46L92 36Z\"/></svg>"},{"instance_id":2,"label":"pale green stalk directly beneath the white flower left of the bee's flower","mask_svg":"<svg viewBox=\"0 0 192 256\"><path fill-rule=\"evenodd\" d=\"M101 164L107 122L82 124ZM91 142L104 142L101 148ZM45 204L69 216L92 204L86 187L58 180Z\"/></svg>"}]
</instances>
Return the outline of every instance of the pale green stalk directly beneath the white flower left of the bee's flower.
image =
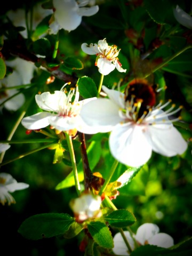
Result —
<instances>
[{"instance_id":1,"label":"pale green stalk directly beneath the white flower left of the bee's flower","mask_svg":"<svg viewBox=\"0 0 192 256\"><path fill-rule=\"evenodd\" d=\"M80 196L81 195L81 187L80 187L79 180L78 180L77 165L76 165L76 161L75 161L73 142L72 142L71 136L67 132L65 132L65 135L66 135L67 145L69 148L69 154L70 154L71 163L72 163L72 167L73 167L75 187L77 190L77 195Z\"/></svg>"}]
</instances>

